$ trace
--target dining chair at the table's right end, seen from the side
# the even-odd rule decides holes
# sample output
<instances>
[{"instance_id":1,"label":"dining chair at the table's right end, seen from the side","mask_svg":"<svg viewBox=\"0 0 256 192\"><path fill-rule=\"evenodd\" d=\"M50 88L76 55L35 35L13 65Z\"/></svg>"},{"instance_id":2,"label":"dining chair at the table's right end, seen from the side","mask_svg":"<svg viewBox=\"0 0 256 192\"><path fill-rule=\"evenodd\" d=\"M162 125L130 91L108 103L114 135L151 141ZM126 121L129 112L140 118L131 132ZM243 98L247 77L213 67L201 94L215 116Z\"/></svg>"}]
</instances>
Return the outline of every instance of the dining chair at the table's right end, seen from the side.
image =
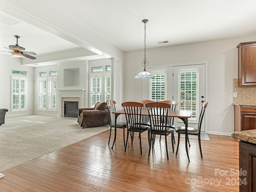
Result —
<instances>
[{"instance_id":1,"label":"dining chair at the table's right end, seen from the side","mask_svg":"<svg viewBox=\"0 0 256 192\"><path fill-rule=\"evenodd\" d=\"M198 144L199 144L201 158L203 158L203 155L202 155L200 134L201 134L202 121L203 121L203 118L204 118L204 112L207 108L207 105L208 105L208 102L203 102L201 104L202 109L201 109L199 120L198 120L198 128L188 127L188 129L187 129L187 138L188 138L188 135L197 135L198 136ZM180 143L180 134L185 134L186 130L185 130L184 126L178 126L178 127L176 127L175 130L178 133L178 145L177 145L177 150L176 150L176 155L177 155L178 148L179 148L179 143ZM188 140L188 145L190 146L189 140Z\"/></svg>"}]
</instances>

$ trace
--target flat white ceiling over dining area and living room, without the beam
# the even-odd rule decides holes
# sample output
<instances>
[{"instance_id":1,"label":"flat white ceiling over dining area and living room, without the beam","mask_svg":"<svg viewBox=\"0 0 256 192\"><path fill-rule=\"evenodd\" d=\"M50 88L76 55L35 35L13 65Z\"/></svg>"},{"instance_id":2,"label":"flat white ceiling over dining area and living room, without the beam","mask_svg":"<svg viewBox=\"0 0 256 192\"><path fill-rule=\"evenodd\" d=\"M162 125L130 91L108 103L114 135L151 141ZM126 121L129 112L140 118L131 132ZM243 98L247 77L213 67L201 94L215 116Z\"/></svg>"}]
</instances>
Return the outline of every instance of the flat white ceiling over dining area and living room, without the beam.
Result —
<instances>
[{"instance_id":1,"label":"flat white ceiling over dining area and living room, without the beam","mask_svg":"<svg viewBox=\"0 0 256 192\"><path fill-rule=\"evenodd\" d=\"M36 0L40 2L39 0ZM49 7L62 12L122 51L187 44L256 34L255 0L44 0ZM46 14L47 14L47 8ZM52 10L52 9L51 9ZM56 35L17 21L1 21L0 51L18 44L26 51L44 55L79 48ZM169 43L157 42L168 40ZM2 47L2 48L1 48ZM0 52L3 53L3 52ZM9 54L9 53L7 53Z\"/></svg>"}]
</instances>

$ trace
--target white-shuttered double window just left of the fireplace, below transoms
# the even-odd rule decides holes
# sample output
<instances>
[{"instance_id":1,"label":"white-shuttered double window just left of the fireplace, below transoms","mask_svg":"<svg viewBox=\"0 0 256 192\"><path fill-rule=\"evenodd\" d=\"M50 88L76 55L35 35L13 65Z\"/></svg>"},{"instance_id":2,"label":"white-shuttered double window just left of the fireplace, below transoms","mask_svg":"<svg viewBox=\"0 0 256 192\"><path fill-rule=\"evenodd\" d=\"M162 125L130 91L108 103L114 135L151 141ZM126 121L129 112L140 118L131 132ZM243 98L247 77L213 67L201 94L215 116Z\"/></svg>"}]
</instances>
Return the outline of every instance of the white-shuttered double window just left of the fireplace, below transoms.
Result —
<instances>
[{"instance_id":1,"label":"white-shuttered double window just left of the fireplace, below transoms","mask_svg":"<svg viewBox=\"0 0 256 192\"><path fill-rule=\"evenodd\" d=\"M39 79L39 110L57 110L56 88L56 77Z\"/></svg>"}]
</instances>

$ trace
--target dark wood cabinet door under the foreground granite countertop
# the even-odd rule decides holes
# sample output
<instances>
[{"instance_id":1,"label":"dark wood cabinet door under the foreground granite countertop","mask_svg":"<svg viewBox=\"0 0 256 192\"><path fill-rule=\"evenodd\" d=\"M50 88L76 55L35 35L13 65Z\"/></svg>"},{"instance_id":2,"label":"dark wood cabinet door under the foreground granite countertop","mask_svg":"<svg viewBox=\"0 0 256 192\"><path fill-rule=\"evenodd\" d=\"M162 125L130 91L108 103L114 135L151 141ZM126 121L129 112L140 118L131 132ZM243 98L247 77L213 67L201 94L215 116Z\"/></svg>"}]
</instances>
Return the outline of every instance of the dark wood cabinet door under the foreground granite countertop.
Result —
<instances>
[{"instance_id":1,"label":"dark wood cabinet door under the foreground granite countertop","mask_svg":"<svg viewBox=\"0 0 256 192\"><path fill-rule=\"evenodd\" d=\"M256 146L239 142L239 191L256 191Z\"/></svg>"}]
</instances>

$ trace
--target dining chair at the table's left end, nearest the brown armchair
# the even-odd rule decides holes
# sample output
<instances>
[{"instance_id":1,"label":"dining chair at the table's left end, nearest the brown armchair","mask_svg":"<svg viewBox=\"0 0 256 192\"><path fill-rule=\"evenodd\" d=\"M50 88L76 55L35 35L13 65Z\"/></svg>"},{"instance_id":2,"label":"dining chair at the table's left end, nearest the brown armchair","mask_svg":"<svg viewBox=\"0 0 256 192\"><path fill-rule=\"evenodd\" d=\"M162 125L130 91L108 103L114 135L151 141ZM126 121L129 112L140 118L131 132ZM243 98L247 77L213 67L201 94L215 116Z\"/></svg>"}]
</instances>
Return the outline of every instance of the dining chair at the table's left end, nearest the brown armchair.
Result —
<instances>
[{"instance_id":1,"label":"dining chair at the table's left end, nearest the brown armchair","mask_svg":"<svg viewBox=\"0 0 256 192\"><path fill-rule=\"evenodd\" d=\"M109 116L110 116L110 134L109 134L109 139L108 139L108 145L109 145L110 137L111 137L111 130L112 130L112 127L115 127L115 114L112 112L116 111L116 102L113 100L107 100L106 103L108 106L108 112L109 112ZM124 146L125 146L125 128L126 127L127 127L126 122L116 122L116 128L123 129Z\"/></svg>"}]
</instances>

